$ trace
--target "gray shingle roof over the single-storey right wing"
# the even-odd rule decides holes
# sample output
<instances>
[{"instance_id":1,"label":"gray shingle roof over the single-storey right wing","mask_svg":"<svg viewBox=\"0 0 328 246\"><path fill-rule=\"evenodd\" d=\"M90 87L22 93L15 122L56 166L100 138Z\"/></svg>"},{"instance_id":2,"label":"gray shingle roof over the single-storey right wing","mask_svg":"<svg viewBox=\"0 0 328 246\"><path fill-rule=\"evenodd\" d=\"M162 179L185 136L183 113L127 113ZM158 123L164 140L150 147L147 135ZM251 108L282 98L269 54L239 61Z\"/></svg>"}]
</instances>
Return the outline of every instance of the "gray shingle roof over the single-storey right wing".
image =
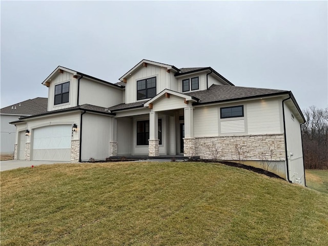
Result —
<instances>
[{"instance_id":1,"label":"gray shingle roof over the single-storey right wing","mask_svg":"<svg viewBox=\"0 0 328 246\"><path fill-rule=\"evenodd\" d=\"M274 89L212 85L209 90L189 92L186 94L200 99L198 104L206 104L288 92Z\"/></svg>"}]
</instances>

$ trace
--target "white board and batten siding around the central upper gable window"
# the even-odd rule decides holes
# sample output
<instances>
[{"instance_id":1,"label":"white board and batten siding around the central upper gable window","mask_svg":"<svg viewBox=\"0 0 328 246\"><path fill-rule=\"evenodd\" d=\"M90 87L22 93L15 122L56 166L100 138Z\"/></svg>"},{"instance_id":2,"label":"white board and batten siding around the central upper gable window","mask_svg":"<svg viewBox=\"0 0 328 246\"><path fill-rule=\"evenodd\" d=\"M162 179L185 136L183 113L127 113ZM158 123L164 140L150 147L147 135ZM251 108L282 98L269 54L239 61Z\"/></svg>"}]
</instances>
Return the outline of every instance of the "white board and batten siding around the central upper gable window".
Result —
<instances>
[{"instance_id":1,"label":"white board and batten siding around the central upper gable window","mask_svg":"<svg viewBox=\"0 0 328 246\"><path fill-rule=\"evenodd\" d=\"M137 80L156 77L156 94L164 89L177 90L176 79L174 73L168 73L166 68L148 64L133 73L128 79L125 87L126 104L135 103L137 101Z\"/></svg>"}]
</instances>

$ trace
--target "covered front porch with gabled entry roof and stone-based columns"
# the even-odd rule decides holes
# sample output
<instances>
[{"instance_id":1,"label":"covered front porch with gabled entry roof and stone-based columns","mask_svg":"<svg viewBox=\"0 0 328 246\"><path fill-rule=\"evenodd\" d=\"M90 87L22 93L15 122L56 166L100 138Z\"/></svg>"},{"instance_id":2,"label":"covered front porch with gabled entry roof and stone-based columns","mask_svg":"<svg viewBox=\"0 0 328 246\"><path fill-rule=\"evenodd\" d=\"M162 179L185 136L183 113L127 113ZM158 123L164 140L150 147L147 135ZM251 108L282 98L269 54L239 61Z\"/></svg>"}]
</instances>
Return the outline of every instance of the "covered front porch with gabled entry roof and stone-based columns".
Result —
<instances>
[{"instance_id":1,"label":"covered front porch with gabled entry roof and stone-based columns","mask_svg":"<svg viewBox=\"0 0 328 246\"><path fill-rule=\"evenodd\" d=\"M117 112L110 156L195 156L193 100L165 90L143 107Z\"/></svg>"}]
</instances>

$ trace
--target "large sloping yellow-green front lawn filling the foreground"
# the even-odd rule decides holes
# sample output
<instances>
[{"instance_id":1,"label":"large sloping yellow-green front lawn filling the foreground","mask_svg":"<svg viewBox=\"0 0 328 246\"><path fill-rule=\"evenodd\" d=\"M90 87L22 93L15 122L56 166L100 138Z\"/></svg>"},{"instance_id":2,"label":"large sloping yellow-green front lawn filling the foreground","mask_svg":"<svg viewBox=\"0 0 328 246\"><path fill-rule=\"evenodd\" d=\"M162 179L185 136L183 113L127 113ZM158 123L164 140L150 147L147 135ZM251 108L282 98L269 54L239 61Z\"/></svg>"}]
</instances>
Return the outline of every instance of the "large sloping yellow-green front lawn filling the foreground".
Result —
<instances>
[{"instance_id":1,"label":"large sloping yellow-green front lawn filling the foreground","mask_svg":"<svg viewBox=\"0 0 328 246\"><path fill-rule=\"evenodd\" d=\"M1 172L1 245L328 245L328 195L197 162Z\"/></svg>"}]
</instances>

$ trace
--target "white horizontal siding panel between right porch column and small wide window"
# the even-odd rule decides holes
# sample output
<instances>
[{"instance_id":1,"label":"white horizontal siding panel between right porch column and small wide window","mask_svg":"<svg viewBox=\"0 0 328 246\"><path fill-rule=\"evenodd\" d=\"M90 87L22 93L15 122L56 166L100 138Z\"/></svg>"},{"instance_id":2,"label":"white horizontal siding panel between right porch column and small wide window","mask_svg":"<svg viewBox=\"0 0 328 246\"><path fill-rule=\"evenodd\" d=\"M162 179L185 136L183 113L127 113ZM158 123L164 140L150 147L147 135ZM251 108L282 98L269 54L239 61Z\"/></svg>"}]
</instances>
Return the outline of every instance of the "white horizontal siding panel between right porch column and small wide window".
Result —
<instances>
[{"instance_id":1,"label":"white horizontal siding panel between right porch column and small wide window","mask_svg":"<svg viewBox=\"0 0 328 246\"><path fill-rule=\"evenodd\" d=\"M195 137L218 136L218 108L199 107L194 109Z\"/></svg>"}]
</instances>

